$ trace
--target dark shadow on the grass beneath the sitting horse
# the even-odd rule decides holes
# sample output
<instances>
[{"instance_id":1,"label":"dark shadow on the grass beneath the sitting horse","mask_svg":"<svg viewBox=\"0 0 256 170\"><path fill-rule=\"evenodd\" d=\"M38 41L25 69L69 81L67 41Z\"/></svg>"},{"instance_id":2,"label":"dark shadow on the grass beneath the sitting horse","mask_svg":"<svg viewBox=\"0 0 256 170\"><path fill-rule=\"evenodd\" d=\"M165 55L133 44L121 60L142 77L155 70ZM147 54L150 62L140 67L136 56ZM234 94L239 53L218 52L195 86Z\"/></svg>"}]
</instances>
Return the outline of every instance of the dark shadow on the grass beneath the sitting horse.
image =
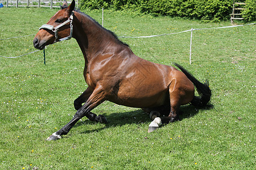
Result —
<instances>
[{"instance_id":1,"label":"dark shadow on the grass beneath the sitting horse","mask_svg":"<svg viewBox=\"0 0 256 170\"><path fill-rule=\"evenodd\" d=\"M193 105L184 105L180 107L180 115L177 121L182 121L183 119L190 118L195 116L199 113L199 109L209 110L212 109L213 105L209 104L207 107L204 108L196 108ZM101 131L106 128L116 127L116 126L123 126L127 124L140 124L140 123L148 123L152 121L149 117L149 114L142 111L142 109L137 109L131 112L118 112L118 113L111 113L109 115L102 114L108 119L108 124L105 124L103 128L93 129L93 130L85 130L81 133L92 133L94 131ZM73 128L77 128L81 125L92 125L97 124L96 122L92 122L89 120L79 121ZM164 126L164 125L162 125Z\"/></svg>"}]
</instances>

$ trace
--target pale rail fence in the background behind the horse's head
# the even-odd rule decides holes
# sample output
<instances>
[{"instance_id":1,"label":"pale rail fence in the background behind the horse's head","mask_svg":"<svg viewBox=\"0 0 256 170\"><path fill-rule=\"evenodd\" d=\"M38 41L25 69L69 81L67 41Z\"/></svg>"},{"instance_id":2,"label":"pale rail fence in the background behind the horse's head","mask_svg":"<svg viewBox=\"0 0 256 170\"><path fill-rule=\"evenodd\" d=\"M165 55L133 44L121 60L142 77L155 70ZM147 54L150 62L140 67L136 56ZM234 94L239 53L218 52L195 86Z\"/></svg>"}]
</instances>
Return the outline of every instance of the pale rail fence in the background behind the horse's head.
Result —
<instances>
[{"instance_id":1,"label":"pale rail fence in the background behind the horse's head","mask_svg":"<svg viewBox=\"0 0 256 170\"><path fill-rule=\"evenodd\" d=\"M1 2L1 1L0 1ZM70 4L68 2L68 4ZM78 6L79 1L76 1L76 6ZM5 0L2 1L4 7L50 7L58 8L63 5L63 0L53 1L53 0Z\"/></svg>"}]
</instances>

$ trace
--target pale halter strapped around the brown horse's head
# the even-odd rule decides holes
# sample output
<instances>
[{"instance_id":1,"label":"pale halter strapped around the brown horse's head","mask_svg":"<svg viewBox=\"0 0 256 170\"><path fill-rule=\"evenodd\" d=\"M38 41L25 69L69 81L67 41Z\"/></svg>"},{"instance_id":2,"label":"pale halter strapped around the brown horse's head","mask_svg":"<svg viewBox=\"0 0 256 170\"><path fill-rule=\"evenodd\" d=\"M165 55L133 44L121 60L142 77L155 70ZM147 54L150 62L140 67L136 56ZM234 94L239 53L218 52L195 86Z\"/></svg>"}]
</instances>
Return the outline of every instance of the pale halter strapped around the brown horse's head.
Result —
<instances>
[{"instance_id":1,"label":"pale halter strapped around the brown horse's head","mask_svg":"<svg viewBox=\"0 0 256 170\"><path fill-rule=\"evenodd\" d=\"M42 25L40 29L48 29L50 31L53 31L54 32L54 35L55 35L55 41L54 42L60 42L60 41L64 41L64 40L69 40L72 38L72 35L73 35L73 25L72 25L72 22L73 22L73 15L74 15L74 12L72 11L71 12L71 15L69 16L68 20L66 20L64 23L61 23L60 25L57 25L56 27L53 27L52 25L48 25L48 24L44 24ZM62 39L59 39L58 40L58 31L59 31L59 28L60 27L63 27L63 25L67 24L67 23L70 23L70 34L69 36L67 37L64 37Z\"/></svg>"}]
</instances>

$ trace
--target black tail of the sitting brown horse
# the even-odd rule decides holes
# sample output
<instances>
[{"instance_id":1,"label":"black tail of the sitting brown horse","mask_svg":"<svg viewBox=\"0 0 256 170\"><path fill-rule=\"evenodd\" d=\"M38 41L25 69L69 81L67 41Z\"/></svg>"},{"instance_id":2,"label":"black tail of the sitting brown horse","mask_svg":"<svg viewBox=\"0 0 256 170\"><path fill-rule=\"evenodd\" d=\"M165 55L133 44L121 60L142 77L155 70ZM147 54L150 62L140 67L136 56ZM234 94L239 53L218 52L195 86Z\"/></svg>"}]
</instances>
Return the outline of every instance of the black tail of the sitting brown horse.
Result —
<instances>
[{"instance_id":1,"label":"black tail of the sitting brown horse","mask_svg":"<svg viewBox=\"0 0 256 170\"><path fill-rule=\"evenodd\" d=\"M192 74L190 74L187 70L185 70L182 66L178 65L177 63L174 63L176 67L178 67L191 82L196 87L197 92L200 96L194 96L193 100L191 101L192 105L195 105L196 107L205 107L207 103L210 101L210 96L212 96L212 92L209 88L209 82L208 80L205 81L205 83L199 82Z\"/></svg>"}]
</instances>

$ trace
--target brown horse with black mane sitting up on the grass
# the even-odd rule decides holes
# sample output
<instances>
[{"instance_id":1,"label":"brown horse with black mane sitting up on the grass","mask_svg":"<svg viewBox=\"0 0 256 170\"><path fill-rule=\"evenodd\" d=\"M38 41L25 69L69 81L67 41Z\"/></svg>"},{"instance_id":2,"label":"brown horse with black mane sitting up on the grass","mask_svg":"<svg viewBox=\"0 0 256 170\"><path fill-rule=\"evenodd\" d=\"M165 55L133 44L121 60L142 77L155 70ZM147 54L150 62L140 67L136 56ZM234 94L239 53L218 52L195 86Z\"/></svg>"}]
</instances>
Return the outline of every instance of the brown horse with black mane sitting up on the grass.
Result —
<instances>
[{"instance_id":1,"label":"brown horse with black mane sitting up on the grass","mask_svg":"<svg viewBox=\"0 0 256 170\"><path fill-rule=\"evenodd\" d=\"M84 78L88 88L74 101L77 112L47 140L60 139L84 116L106 123L104 116L90 112L105 100L150 113L154 121L148 132L176 120L180 105L207 105L211 96L208 82L200 83L180 65L175 64L182 72L135 56L113 32L74 8L75 1L69 6L64 2L34 38L35 48L44 49L48 44L73 37L85 59ZM194 85L200 96L195 96Z\"/></svg>"}]
</instances>

